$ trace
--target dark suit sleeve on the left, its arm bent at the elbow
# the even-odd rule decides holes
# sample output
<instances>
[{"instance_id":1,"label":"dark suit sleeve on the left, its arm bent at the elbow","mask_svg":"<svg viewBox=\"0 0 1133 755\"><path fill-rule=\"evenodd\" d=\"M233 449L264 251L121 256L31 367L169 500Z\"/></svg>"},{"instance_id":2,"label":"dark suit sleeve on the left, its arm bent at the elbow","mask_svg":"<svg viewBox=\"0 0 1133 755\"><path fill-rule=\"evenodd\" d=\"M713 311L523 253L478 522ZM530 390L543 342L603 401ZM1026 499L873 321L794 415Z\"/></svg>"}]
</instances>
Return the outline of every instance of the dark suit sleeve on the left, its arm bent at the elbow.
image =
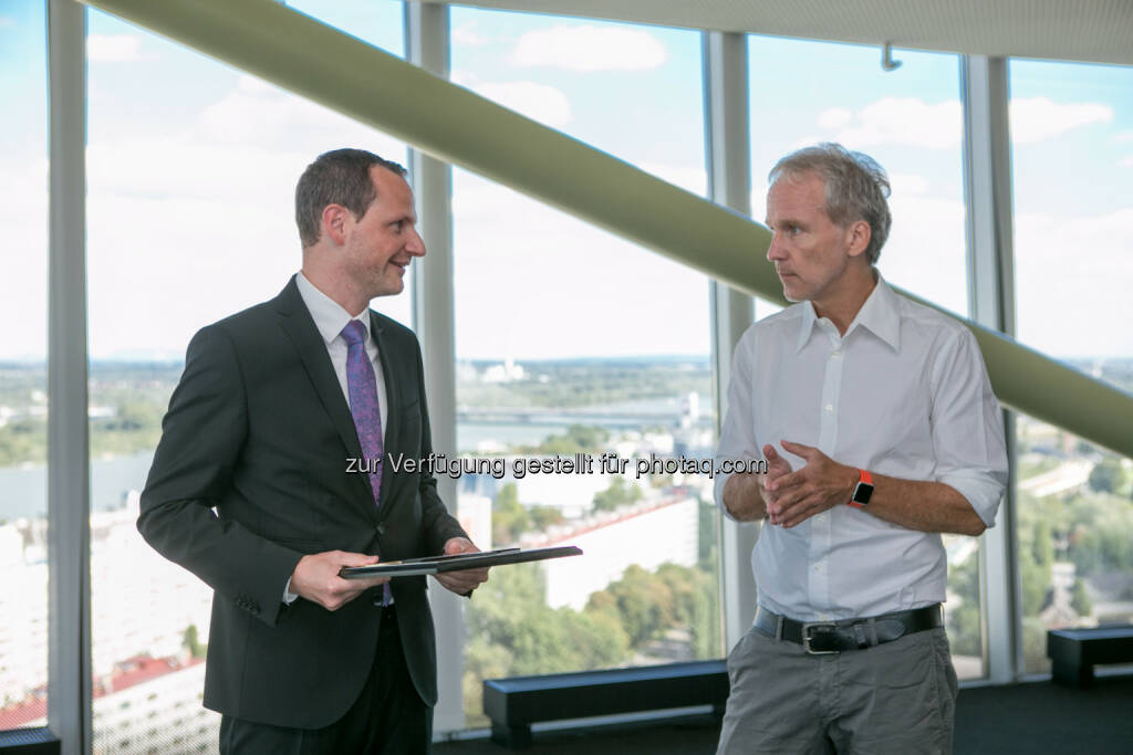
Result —
<instances>
[{"instance_id":1,"label":"dark suit sleeve on the left, its arm bent at the elbow","mask_svg":"<svg viewBox=\"0 0 1133 755\"><path fill-rule=\"evenodd\" d=\"M245 389L229 335L219 326L197 333L162 421L138 531L220 597L274 625L283 585L301 555L223 512L247 437Z\"/></svg>"}]
</instances>

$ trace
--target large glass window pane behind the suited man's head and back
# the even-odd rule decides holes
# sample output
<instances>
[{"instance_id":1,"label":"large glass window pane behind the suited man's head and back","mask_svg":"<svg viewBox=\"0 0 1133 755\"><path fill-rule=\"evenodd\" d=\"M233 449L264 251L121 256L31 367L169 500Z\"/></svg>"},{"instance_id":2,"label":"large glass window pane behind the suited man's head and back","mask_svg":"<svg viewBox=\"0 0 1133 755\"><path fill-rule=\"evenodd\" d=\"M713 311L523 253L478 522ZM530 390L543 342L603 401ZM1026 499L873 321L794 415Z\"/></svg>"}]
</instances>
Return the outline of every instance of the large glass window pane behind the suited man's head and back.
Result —
<instances>
[{"instance_id":1,"label":"large glass window pane behind the suited man's head and back","mask_svg":"<svg viewBox=\"0 0 1133 755\"><path fill-rule=\"evenodd\" d=\"M363 3L348 5L303 9ZM400 6L366 5L372 38L401 54ZM299 268L304 168L343 146L399 162L406 148L94 10L88 50L95 752L212 750L220 717L201 705L212 592L135 526L161 418L193 334ZM409 321L408 293L374 307Z\"/></svg>"}]
</instances>

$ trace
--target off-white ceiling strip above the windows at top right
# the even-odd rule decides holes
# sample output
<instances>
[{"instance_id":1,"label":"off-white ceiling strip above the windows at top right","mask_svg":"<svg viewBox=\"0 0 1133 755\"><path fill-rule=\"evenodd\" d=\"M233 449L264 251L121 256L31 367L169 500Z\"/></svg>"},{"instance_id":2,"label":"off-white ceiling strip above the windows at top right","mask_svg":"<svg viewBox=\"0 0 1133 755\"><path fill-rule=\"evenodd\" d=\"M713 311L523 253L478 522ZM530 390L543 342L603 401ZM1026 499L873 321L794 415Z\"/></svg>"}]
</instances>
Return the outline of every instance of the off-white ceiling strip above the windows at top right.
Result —
<instances>
[{"instance_id":1,"label":"off-white ceiling strip above the windows at top right","mask_svg":"<svg viewBox=\"0 0 1133 755\"><path fill-rule=\"evenodd\" d=\"M459 5L879 46L889 42L895 48L994 57L1133 65L1133 0L462 0Z\"/></svg>"}]
</instances>

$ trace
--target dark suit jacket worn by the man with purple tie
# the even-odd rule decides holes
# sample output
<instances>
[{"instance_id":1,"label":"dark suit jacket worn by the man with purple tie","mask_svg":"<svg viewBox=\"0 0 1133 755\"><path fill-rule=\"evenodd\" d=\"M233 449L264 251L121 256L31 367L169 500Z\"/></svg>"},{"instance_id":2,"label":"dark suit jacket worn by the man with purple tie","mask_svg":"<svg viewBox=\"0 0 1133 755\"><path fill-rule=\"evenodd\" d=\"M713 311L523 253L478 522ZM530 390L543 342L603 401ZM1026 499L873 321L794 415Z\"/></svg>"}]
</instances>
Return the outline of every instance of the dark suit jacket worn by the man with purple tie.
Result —
<instances>
[{"instance_id":1,"label":"dark suit jacket worn by the man with purple tie","mask_svg":"<svg viewBox=\"0 0 1133 755\"><path fill-rule=\"evenodd\" d=\"M432 475L393 473L392 455L432 451L420 348L369 312L385 374L386 464L378 504L326 346L295 278L275 299L203 328L162 423L138 530L215 591L204 704L275 726L341 718L370 670L381 609L361 595L338 611L283 587L304 554L382 560L440 554L462 537ZM436 702L436 647L425 577L392 582L406 661ZM378 590L372 592L380 592Z\"/></svg>"}]
</instances>

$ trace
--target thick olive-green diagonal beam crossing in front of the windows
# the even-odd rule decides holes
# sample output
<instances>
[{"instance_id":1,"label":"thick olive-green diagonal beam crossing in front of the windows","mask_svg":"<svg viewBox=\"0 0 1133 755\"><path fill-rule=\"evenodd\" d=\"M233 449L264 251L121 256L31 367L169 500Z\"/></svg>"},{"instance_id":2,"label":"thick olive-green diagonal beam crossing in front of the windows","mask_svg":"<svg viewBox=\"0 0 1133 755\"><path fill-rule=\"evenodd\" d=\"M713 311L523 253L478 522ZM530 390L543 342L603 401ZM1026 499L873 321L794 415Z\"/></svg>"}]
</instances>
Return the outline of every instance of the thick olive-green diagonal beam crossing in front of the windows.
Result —
<instances>
[{"instance_id":1,"label":"thick olive-green diagonal beam crossing in front of the windows","mask_svg":"<svg viewBox=\"0 0 1133 755\"><path fill-rule=\"evenodd\" d=\"M763 225L273 0L86 2L727 285L783 302L764 258L770 235ZM1133 396L957 319L976 334L999 401L1133 456Z\"/></svg>"}]
</instances>

